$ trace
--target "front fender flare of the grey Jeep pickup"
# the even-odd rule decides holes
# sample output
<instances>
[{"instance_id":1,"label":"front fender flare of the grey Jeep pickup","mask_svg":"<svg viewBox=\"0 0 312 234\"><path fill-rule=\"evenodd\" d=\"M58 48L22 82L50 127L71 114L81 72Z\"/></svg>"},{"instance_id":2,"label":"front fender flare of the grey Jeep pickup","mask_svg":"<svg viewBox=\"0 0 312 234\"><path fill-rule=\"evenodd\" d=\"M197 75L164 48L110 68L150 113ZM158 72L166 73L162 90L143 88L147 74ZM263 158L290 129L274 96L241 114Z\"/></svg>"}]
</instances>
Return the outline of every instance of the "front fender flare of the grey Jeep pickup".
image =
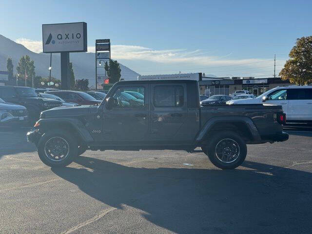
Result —
<instances>
[{"instance_id":1,"label":"front fender flare of the grey Jeep pickup","mask_svg":"<svg viewBox=\"0 0 312 234\"><path fill-rule=\"evenodd\" d=\"M93 141L93 137L89 133L89 131L86 129L85 125L78 119L76 118L44 118L44 119L39 119L38 120L39 129L48 127L48 129L52 125L60 125L60 124L65 124L67 126L70 126L71 128L75 129L75 131L78 133L79 137L85 142L90 142Z\"/></svg>"}]
</instances>

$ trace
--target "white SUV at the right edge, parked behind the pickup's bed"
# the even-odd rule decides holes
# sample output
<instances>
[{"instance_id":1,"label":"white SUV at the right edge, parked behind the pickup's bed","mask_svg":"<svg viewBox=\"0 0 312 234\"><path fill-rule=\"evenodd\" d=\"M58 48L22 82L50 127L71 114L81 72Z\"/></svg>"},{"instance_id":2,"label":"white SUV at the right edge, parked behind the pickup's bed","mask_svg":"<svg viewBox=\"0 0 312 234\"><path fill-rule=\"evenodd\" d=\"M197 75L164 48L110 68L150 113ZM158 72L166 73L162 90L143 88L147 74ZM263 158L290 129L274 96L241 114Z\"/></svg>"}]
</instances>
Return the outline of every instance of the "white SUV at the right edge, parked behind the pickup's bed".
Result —
<instances>
[{"instance_id":1,"label":"white SUV at the right edge, parked behind the pickup's bed","mask_svg":"<svg viewBox=\"0 0 312 234\"><path fill-rule=\"evenodd\" d=\"M257 98L230 100L227 104L281 105L287 122L312 121L312 86L287 86L271 89Z\"/></svg>"}]
</instances>

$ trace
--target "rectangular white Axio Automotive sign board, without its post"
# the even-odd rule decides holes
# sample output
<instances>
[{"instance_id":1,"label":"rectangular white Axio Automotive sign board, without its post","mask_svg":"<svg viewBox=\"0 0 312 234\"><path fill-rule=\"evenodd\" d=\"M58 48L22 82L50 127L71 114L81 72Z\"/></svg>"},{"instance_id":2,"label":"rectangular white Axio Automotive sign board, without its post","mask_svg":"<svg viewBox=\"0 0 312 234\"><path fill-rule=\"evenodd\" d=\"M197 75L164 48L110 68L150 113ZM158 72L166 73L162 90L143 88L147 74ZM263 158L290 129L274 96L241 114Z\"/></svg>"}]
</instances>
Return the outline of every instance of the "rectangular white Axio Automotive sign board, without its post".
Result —
<instances>
[{"instance_id":1,"label":"rectangular white Axio Automotive sign board, without its post","mask_svg":"<svg viewBox=\"0 0 312 234\"><path fill-rule=\"evenodd\" d=\"M44 53L86 52L87 23L42 24Z\"/></svg>"}]
</instances>

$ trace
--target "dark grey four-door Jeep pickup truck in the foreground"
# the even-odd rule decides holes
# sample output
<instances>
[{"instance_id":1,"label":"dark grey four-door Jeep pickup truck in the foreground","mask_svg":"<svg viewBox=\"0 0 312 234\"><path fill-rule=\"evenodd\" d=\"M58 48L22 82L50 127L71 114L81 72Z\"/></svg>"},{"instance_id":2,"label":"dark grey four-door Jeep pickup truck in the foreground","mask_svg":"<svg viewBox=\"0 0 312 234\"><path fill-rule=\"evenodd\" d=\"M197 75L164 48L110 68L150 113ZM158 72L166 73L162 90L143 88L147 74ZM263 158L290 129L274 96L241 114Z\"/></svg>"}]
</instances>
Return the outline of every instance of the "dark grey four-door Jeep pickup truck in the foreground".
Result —
<instances>
[{"instance_id":1,"label":"dark grey four-door Jeep pickup truck in the foreground","mask_svg":"<svg viewBox=\"0 0 312 234\"><path fill-rule=\"evenodd\" d=\"M128 91L144 99L123 95ZM194 80L120 81L99 106L43 111L28 141L43 163L66 166L88 150L186 150L196 147L222 169L242 164L246 144L285 141L281 106L199 105Z\"/></svg>"}]
</instances>

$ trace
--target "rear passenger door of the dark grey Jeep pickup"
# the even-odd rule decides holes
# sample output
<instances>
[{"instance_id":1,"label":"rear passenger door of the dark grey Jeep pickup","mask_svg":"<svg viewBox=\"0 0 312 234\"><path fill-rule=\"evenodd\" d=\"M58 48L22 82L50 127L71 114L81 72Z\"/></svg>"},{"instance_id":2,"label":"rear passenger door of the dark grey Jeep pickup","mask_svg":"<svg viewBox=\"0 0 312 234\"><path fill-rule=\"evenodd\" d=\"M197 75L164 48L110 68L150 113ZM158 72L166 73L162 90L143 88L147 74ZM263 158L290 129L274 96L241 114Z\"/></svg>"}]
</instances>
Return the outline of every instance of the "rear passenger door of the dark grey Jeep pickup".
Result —
<instances>
[{"instance_id":1,"label":"rear passenger door of the dark grey Jeep pickup","mask_svg":"<svg viewBox=\"0 0 312 234\"><path fill-rule=\"evenodd\" d=\"M155 144L186 139L183 124L188 117L186 84L151 84L151 141ZM169 143L168 143L169 144Z\"/></svg>"}]
</instances>

